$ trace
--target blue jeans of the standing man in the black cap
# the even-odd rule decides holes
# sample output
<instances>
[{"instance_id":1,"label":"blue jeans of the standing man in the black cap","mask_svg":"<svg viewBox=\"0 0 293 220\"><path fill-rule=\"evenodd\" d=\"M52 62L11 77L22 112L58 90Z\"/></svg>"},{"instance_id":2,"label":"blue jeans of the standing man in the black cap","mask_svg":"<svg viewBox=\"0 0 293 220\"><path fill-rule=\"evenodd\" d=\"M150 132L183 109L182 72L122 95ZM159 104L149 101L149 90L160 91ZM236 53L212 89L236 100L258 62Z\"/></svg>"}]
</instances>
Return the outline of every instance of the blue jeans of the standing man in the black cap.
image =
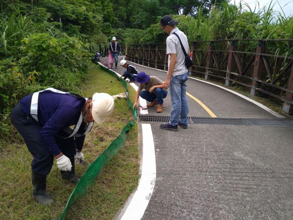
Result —
<instances>
[{"instance_id":1,"label":"blue jeans of the standing man in the black cap","mask_svg":"<svg viewBox=\"0 0 293 220\"><path fill-rule=\"evenodd\" d=\"M188 79L188 72L178 75L171 76L170 81L170 94L172 102L172 110L169 124L175 126L179 122L183 125L187 125L187 115L188 115L188 100L186 96L186 80Z\"/></svg>"}]
</instances>

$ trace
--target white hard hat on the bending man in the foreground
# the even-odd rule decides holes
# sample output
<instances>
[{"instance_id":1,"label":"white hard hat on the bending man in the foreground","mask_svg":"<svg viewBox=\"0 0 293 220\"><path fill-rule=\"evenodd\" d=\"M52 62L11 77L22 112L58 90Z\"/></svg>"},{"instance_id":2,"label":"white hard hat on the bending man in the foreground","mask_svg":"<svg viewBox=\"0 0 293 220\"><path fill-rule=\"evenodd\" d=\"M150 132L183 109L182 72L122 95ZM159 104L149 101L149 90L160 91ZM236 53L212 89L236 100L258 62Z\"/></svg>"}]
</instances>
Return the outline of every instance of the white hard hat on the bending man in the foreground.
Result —
<instances>
[{"instance_id":1,"label":"white hard hat on the bending man in the foreground","mask_svg":"<svg viewBox=\"0 0 293 220\"><path fill-rule=\"evenodd\" d=\"M92 95L92 118L101 124L114 109L114 98L107 93Z\"/></svg>"}]
</instances>

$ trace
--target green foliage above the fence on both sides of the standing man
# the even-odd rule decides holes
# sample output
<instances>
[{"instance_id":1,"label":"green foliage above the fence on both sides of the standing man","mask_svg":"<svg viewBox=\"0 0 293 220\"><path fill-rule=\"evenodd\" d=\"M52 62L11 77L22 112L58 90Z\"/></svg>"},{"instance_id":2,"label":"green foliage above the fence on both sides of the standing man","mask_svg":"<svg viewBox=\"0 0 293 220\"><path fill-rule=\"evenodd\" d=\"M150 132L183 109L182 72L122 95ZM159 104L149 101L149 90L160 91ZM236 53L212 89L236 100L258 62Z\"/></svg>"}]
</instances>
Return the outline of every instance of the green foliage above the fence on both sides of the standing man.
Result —
<instances>
[{"instance_id":1,"label":"green foliage above the fence on both sides of the standing man","mask_svg":"<svg viewBox=\"0 0 293 220\"><path fill-rule=\"evenodd\" d=\"M197 17L172 15L179 20L176 25L186 33L189 41L214 39L292 39L293 17L275 12L272 5L259 10L230 5L225 2L212 7L207 15L205 9L199 8ZM132 36L127 43L146 44L163 43L166 35L161 31L160 19L156 24ZM289 45L284 51L290 49Z\"/></svg>"}]
</instances>

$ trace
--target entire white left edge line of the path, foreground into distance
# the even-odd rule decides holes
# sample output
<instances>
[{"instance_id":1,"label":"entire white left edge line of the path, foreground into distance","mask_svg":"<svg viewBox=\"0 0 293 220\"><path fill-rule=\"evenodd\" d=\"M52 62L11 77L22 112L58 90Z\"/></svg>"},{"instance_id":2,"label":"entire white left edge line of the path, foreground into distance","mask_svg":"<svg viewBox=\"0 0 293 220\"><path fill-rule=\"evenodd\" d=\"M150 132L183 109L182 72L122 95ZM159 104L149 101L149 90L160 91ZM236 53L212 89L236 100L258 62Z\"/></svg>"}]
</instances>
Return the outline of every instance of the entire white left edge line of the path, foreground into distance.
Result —
<instances>
[{"instance_id":1,"label":"entire white left edge line of the path, foreground into distance","mask_svg":"<svg viewBox=\"0 0 293 220\"><path fill-rule=\"evenodd\" d=\"M100 62L98 63L104 66ZM117 72L115 73L119 77L121 76ZM136 91L138 90L136 84L130 83L130 85ZM143 106L147 105L146 100L142 99L141 97L139 102ZM142 108L140 108L140 114L148 114L148 112L147 110L142 110ZM147 208L148 202L154 190L156 182L156 159L154 150L154 139L150 124L138 125L138 140L140 175L139 185L130 194L125 204L117 212L117 214L114 217L115 220L128 220L130 217L133 220L141 219L143 217L144 211Z\"/></svg>"}]
</instances>

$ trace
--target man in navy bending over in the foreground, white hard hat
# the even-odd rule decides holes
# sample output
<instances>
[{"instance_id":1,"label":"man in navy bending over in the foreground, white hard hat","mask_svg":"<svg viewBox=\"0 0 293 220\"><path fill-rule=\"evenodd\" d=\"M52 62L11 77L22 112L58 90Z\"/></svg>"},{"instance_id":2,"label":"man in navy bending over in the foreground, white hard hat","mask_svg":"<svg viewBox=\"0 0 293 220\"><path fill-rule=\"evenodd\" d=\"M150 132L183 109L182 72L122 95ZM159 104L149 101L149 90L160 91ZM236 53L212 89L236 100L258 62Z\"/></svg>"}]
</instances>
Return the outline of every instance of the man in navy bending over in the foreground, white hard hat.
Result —
<instances>
[{"instance_id":1,"label":"man in navy bending over in the foreground, white hard hat","mask_svg":"<svg viewBox=\"0 0 293 220\"><path fill-rule=\"evenodd\" d=\"M31 180L38 203L54 202L46 193L47 175L54 158L63 179L79 181L74 170L74 155L78 163L84 160L85 134L94 121L103 123L113 108L114 99L107 93L95 93L87 99L54 88L30 94L13 108L12 123L34 157Z\"/></svg>"}]
</instances>

